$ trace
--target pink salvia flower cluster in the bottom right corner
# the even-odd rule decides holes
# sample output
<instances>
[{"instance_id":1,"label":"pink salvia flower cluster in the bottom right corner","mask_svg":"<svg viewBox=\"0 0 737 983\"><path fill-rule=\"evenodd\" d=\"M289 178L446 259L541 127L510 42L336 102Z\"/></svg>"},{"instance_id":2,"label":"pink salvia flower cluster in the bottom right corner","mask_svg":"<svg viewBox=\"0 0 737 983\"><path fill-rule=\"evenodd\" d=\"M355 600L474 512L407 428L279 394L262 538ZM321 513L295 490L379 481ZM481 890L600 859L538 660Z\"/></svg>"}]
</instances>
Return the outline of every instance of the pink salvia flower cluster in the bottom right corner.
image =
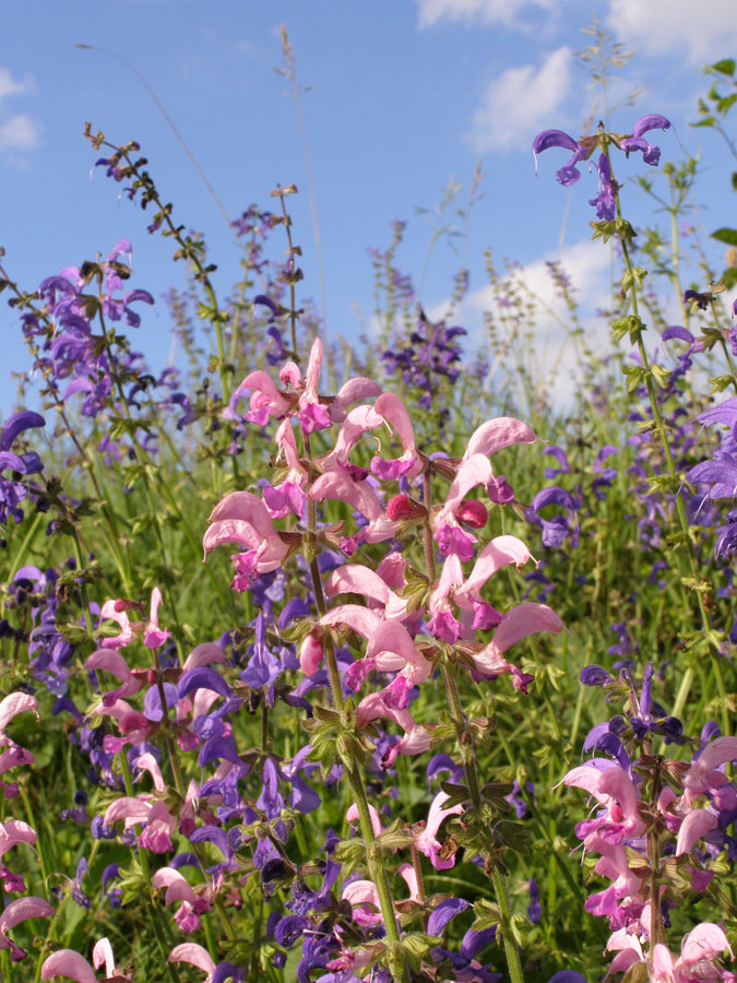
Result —
<instances>
[{"instance_id":1,"label":"pink salvia flower cluster in the bottom right corner","mask_svg":"<svg viewBox=\"0 0 737 983\"><path fill-rule=\"evenodd\" d=\"M737 789L724 766L736 760L737 737L716 737L690 765L659 767L657 779L643 774L655 762L650 757L635 760L637 769L594 758L566 774L567 785L583 789L597 803L576 834L585 851L599 855L596 874L610 881L589 897L585 908L609 921L607 949L618 952L611 971L644 962L653 983L734 983L735 975L717 959L725 950L732 955L720 926L697 926L683 938L677 959L662 939L664 913L676 903L673 888L680 885L682 891L686 884L700 893L714 876L709 861L737 808ZM650 950L643 954L646 941Z\"/></svg>"}]
</instances>

